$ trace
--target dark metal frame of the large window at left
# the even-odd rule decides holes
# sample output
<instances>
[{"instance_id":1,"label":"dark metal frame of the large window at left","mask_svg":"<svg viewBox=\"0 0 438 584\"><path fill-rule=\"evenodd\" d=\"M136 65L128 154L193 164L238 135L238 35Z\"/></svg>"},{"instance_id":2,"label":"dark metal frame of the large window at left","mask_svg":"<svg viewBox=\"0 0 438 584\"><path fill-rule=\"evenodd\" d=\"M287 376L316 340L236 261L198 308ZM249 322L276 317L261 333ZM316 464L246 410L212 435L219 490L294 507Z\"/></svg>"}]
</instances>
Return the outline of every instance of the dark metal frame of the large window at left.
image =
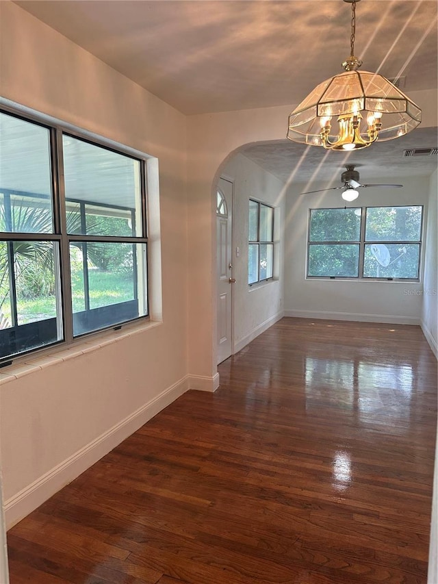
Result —
<instances>
[{"instance_id":1,"label":"dark metal frame of the large window at left","mask_svg":"<svg viewBox=\"0 0 438 584\"><path fill-rule=\"evenodd\" d=\"M49 172L51 175L51 195L48 199L51 203L52 212L52 231L49 233L32 233L32 232L20 232L20 231L0 231L0 241L8 244L8 249L10 245L18 241L49 241L57 243L59 250L59 263L55 266L55 271L59 270L59 286L55 290L55 295L60 296L60 311L56 315L57 329L61 329L61 338L54 342L48 342L47 344L39 345L32 348L27 348L24 351L19 351L17 353L10 353L3 357L0 356L0 368L6 365L12 364L12 362L23 360L23 357L28 357L29 354L42 353L50 351L53 348L59 348L59 346L66 346L80 342L84 337L96 335L104 331L118 330L123 326L136 322L139 320L146 321L150 320L150 298L149 298L149 270L150 270L150 249L149 249L149 239L148 239L148 215L147 215L147 192L146 192L146 163L149 160L149 156L144 153L127 147L123 144L114 144L112 140L106 140L103 136L96 136L89 131L81 130L77 127L70 127L68 124L64 124L59 120L47 120L46 116L43 114L38 115L34 113L22 112L15 107L10 107L9 105L1 105L0 113L8 116L17 118L18 120L23 120L26 123L31 123L38 125L48 130L49 135ZM87 142L92 146L96 146L107 151L114 152L118 155L123 155L131 160L136 160L139 163L139 182L140 182L140 210L141 210L141 235L139 236L91 236L83 235L82 233L68 233L67 231L67 215L66 207L68 203L72 202L73 199L65 198L65 183L64 183L64 149L62 143L63 136L70 136L77 140ZM8 191L10 194L19 194L21 196L33 196L31 192L23 192L10 188L0 188L0 192ZM116 207L122 208L120 205L99 205L93 201L80 201L83 205L92 204L97 207ZM123 207L127 209L128 207ZM73 302L72 302L72 290L71 290L71 273L70 273L70 242L104 242L104 243L127 243L136 246L135 249L139 249L141 244L144 246L144 254L142 253L142 258L138 259L138 262L144 262L144 312L145 314L140 314L134 318L126 318L120 322L116 322L110 325L101 326L99 328L86 331L80 334L74 334L73 331ZM134 248L133 248L134 249ZM133 251L134 253L134 251ZM8 265L10 262L8 260ZM9 267L11 269L11 266ZM133 262L133 283L134 283L134 299L138 300L139 296L136 293L137 283L136 283L136 262ZM12 276L13 281L15 281L14 275ZM15 287L15 284L14 284ZM12 290L14 292L14 290ZM84 290L85 293L85 290ZM14 292L15 294L15 292ZM16 299L15 301L16 302ZM12 299L11 299L12 303ZM111 307L112 305L104 305L103 307ZM15 308L14 308L15 310ZM89 309L91 311L92 309ZM15 319L16 320L16 319ZM45 319L47 320L47 319ZM59 322L58 322L59 320ZM36 321L38 322L38 321ZM44 322L40 321L40 322ZM32 323L28 323L31 325ZM18 330L21 326L18 322L5 331Z\"/></svg>"}]
</instances>

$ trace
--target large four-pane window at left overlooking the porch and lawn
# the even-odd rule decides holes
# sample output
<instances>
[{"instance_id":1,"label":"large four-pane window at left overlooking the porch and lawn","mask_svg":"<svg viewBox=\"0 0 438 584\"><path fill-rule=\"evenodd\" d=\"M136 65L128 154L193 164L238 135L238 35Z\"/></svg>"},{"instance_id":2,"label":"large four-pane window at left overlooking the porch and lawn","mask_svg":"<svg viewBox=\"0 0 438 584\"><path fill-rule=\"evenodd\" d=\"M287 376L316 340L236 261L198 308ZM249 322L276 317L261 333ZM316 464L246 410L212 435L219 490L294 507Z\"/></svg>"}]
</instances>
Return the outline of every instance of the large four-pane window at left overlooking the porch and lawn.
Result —
<instances>
[{"instance_id":1,"label":"large four-pane window at left overlooking the porch and lawn","mask_svg":"<svg viewBox=\"0 0 438 584\"><path fill-rule=\"evenodd\" d=\"M147 314L145 160L0 112L0 362Z\"/></svg>"}]
</instances>

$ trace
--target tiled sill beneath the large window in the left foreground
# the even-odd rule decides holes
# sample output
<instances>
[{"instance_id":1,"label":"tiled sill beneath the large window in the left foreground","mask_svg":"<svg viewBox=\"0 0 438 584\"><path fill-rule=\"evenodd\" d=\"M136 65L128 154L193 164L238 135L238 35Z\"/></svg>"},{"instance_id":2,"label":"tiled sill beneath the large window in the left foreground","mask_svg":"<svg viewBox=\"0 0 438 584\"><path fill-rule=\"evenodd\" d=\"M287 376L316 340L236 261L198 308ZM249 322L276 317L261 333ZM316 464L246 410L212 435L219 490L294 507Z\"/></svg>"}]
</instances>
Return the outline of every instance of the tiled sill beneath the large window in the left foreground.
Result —
<instances>
[{"instance_id":1,"label":"tiled sill beneath the large window in the left foreground","mask_svg":"<svg viewBox=\"0 0 438 584\"><path fill-rule=\"evenodd\" d=\"M59 346L56 348L47 348L44 350L44 354L40 354L39 356L35 354L27 355L27 357L21 357L19 361L17 358L15 363L0 369L0 385L14 381L14 379L20 379L25 375L45 369L46 367L62 363L62 361L68 361L80 355L98 351L104 346L143 333L144 331L155 329L159 325L161 325L161 322L151 320L142 322L141 324L137 322L131 323L124 325L123 329L118 331L104 331L93 337L87 337L86 340L77 340L73 344L69 344L68 348L66 348L66 345L62 345L62 348Z\"/></svg>"}]
</instances>

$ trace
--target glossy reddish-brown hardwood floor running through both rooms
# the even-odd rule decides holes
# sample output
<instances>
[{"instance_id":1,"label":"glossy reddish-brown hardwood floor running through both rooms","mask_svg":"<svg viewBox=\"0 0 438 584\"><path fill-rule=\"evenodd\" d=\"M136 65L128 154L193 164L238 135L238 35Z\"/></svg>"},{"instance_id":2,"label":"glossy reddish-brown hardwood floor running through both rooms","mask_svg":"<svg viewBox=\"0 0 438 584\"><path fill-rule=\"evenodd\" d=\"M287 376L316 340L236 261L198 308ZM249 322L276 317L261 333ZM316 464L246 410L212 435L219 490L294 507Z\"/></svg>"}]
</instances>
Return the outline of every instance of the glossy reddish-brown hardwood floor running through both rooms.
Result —
<instances>
[{"instance_id":1,"label":"glossy reddish-brown hardwood floor running through both rooms","mask_svg":"<svg viewBox=\"0 0 438 584\"><path fill-rule=\"evenodd\" d=\"M283 318L8 533L12 584L425 584L419 327Z\"/></svg>"}]
</instances>

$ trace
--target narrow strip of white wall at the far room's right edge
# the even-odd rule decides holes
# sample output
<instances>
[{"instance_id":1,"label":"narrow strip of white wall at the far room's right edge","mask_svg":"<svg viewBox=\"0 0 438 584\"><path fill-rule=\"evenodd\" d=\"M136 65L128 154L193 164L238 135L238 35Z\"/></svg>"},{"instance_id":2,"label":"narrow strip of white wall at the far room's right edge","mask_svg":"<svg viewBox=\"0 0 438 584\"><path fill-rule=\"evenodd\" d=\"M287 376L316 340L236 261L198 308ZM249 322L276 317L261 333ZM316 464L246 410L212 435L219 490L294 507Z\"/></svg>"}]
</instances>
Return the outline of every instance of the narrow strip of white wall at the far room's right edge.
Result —
<instances>
[{"instance_id":1,"label":"narrow strip of white wall at the far room's right edge","mask_svg":"<svg viewBox=\"0 0 438 584\"><path fill-rule=\"evenodd\" d=\"M438 170L430 177L429 212L426 226L426 253L424 255L424 290L422 305L422 329L438 357Z\"/></svg>"}]
</instances>

